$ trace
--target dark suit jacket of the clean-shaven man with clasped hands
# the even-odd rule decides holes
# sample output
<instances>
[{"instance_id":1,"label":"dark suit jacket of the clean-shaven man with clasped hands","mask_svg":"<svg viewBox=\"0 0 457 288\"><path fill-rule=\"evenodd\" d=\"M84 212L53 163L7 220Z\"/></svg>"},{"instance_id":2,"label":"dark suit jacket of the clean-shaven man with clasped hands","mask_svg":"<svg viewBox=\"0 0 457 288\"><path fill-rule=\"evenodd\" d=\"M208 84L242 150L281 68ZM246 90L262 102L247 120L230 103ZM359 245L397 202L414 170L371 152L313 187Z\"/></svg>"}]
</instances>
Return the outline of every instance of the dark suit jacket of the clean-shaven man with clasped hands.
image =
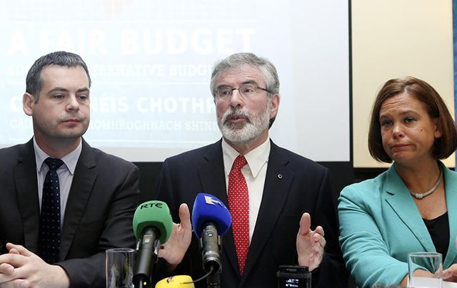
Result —
<instances>
[{"instance_id":1,"label":"dark suit jacket of the clean-shaven man with clasped hands","mask_svg":"<svg viewBox=\"0 0 457 288\"><path fill-rule=\"evenodd\" d=\"M84 140L61 233L59 264L71 287L105 287L105 250L134 247L139 169ZM39 197L33 141L0 149L0 254L6 243L36 252Z\"/></svg>"}]
</instances>

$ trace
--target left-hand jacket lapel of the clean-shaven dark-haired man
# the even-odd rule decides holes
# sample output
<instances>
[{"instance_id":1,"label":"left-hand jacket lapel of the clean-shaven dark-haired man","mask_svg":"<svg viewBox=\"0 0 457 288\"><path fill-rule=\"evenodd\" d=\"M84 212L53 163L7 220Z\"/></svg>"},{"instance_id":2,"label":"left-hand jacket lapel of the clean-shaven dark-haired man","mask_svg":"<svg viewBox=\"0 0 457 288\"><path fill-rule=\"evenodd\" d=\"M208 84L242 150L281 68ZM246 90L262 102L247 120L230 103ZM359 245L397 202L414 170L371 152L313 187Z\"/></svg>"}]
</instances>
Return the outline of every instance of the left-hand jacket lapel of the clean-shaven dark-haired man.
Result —
<instances>
[{"instance_id":1,"label":"left-hand jacket lapel of the clean-shaven dark-haired man","mask_svg":"<svg viewBox=\"0 0 457 288\"><path fill-rule=\"evenodd\" d=\"M24 229L24 247L31 252L36 252L40 209L33 140L23 145L21 149L18 163L14 166L14 182Z\"/></svg>"}]
</instances>

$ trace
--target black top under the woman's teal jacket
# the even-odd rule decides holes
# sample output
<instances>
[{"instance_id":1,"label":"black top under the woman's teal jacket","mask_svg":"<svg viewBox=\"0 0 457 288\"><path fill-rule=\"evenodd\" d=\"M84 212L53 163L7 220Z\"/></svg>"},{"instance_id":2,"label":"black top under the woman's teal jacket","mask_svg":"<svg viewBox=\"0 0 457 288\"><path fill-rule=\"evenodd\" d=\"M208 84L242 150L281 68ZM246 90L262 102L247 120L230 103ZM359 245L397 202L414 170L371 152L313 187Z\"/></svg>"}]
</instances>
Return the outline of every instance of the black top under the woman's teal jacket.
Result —
<instances>
[{"instance_id":1,"label":"black top under the woman's teal jacket","mask_svg":"<svg viewBox=\"0 0 457 288\"><path fill-rule=\"evenodd\" d=\"M448 252L450 237L448 212L432 220L423 219L423 222L426 224L428 233L430 233L431 240L433 241L433 245L435 245L436 248L436 252L443 254L444 262L444 258L446 258L446 252Z\"/></svg>"}]
</instances>

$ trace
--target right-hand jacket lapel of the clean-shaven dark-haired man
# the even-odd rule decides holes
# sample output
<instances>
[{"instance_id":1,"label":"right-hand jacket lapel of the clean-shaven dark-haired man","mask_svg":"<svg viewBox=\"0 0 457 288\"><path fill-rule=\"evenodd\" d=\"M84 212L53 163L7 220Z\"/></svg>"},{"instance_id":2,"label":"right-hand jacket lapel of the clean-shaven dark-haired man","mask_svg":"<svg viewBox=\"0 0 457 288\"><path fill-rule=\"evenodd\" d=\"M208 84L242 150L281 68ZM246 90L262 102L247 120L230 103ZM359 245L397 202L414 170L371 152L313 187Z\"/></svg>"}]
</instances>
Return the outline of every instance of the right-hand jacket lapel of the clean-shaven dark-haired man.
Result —
<instances>
[{"instance_id":1,"label":"right-hand jacket lapel of the clean-shaven dark-haired man","mask_svg":"<svg viewBox=\"0 0 457 288\"><path fill-rule=\"evenodd\" d=\"M62 243L59 260L64 260L69 251L74 235L78 229L81 218L84 215L87 201L94 186L98 173L96 172L96 162L92 154L91 147L86 141L82 140L81 155L74 171L73 181L69 198L66 202L64 226L62 231Z\"/></svg>"}]
</instances>

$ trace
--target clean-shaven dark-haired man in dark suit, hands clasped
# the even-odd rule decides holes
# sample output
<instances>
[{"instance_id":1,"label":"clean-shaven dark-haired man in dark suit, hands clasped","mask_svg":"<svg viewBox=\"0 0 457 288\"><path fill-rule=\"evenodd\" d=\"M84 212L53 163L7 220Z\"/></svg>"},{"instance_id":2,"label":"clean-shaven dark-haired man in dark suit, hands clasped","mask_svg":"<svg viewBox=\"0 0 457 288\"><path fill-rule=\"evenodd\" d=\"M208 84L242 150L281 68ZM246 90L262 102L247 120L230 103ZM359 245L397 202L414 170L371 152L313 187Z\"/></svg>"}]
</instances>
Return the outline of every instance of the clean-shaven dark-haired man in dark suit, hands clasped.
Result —
<instances>
[{"instance_id":1,"label":"clean-shaven dark-haired man in dark suit, hands clasped","mask_svg":"<svg viewBox=\"0 0 457 288\"><path fill-rule=\"evenodd\" d=\"M139 169L82 138L90 86L74 53L49 53L29 70L23 108L34 137L0 150L0 287L105 287L105 250L135 246ZM49 232L43 214L53 161L60 163L53 209L61 213ZM43 244L51 234L54 248Z\"/></svg>"}]
</instances>

